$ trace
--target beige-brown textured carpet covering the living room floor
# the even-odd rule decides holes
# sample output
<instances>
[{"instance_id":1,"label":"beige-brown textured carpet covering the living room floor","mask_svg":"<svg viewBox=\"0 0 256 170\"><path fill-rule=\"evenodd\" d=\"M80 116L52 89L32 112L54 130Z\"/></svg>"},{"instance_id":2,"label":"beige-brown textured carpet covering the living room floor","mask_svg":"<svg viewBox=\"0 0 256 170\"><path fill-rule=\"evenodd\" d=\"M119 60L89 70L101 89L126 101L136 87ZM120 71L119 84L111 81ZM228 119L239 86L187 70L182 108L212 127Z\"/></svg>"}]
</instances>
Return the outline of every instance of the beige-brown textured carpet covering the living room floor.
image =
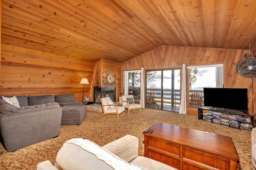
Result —
<instances>
[{"instance_id":1,"label":"beige-brown textured carpet covering the living room floor","mask_svg":"<svg viewBox=\"0 0 256 170\"><path fill-rule=\"evenodd\" d=\"M137 110L131 111L129 115L126 111L125 115L120 115L119 121L116 115L99 118L101 114L88 111L87 118L81 125L62 125L58 137L14 152L7 152L0 144L0 169L35 170L36 165L44 160L50 160L54 164L58 150L70 138L87 138L102 146L126 134L131 134L139 138L139 154L144 156L142 132L157 122L231 136L240 157L240 169L254 169L251 157L251 131L208 123L198 120L197 115L180 115L156 109L142 109L142 113Z\"/></svg>"}]
</instances>

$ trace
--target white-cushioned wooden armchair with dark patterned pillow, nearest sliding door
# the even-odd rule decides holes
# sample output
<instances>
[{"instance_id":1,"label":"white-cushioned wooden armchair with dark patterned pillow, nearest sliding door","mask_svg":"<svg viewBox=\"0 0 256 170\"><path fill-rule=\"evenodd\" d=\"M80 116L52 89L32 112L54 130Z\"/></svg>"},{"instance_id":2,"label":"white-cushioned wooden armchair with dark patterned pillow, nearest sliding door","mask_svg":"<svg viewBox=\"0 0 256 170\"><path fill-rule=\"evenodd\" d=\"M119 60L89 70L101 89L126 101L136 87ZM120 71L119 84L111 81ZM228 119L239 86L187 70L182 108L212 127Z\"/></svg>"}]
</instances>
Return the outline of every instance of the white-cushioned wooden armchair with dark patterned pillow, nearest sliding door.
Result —
<instances>
[{"instance_id":1,"label":"white-cushioned wooden armchair with dark patterned pillow, nearest sliding door","mask_svg":"<svg viewBox=\"0 0 256 170\"><path fill-rule=\"evenodd\" d=\"M128 114L130 114L130 110L135 109L140 109L141 112L140 100L134 100L133 95L122 95L122 106L128 109Z\"/></svg>"}]
</instances>

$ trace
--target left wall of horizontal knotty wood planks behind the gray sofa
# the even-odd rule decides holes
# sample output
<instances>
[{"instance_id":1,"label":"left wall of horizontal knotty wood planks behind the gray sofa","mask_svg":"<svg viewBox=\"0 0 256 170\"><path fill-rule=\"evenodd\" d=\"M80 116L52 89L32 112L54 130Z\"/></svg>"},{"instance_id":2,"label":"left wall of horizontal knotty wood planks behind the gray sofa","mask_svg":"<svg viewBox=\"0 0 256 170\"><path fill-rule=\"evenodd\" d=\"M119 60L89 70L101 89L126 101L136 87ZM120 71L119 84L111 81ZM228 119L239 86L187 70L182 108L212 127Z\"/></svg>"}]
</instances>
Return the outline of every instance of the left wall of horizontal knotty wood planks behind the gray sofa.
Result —
<instances>
[{"instance_id":1,"label":"left wall of horizontal knotty wood planks behind the gray sofa","mask_svg":"<svg viewBox=\"0 0 256 170\"><path fill-rule=\"evenodd\" d=\"M82 102L82 78L92 82L95 62L1 44L0 95L75 93ZM84 95L89 96L90 85Z\"/></svg>"}]
</instances>

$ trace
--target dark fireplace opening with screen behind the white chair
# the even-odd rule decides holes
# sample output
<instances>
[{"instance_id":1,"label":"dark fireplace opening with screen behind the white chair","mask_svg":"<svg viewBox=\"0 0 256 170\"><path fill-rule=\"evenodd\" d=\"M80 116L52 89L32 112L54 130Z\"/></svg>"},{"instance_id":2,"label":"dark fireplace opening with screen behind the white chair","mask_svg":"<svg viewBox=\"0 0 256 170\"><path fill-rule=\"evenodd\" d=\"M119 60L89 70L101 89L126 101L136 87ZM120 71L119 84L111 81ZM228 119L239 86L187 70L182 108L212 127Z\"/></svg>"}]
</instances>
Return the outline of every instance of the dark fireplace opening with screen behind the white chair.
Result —
<instances>
[{"instance_id":1,"label":"dark fireplace opening with screen behind the white chair","mask_svg":"<svg viewBox=\"0 0 256 170\"><path fill-rule=\"evenodd\" d=\"M116 87L94 87L94 103L101 104L100 99L110 97L113 102L116 102Z\"/></svg>"}]
</instances>

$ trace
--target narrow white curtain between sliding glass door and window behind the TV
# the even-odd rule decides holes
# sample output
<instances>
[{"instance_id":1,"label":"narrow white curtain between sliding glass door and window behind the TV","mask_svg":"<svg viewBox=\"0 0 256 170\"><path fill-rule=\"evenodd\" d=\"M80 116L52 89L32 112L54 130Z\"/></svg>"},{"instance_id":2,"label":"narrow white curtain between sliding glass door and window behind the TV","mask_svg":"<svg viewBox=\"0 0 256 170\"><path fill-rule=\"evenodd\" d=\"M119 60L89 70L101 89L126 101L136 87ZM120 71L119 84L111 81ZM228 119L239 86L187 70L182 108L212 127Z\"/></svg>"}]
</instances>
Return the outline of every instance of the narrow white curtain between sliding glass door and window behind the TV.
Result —
<instances>
[{"instance_id":1,"label":"narrow white curtain between sliding glass door and window behind the TV","mask_svg":"<svg viewBox=\"0 0 256 170\"><path fill-rule=\"evenodd\" d=\"M186 64L182 64L182 81L180 95L180 114L186 114Z\"/></svg>"}]
</instances>

